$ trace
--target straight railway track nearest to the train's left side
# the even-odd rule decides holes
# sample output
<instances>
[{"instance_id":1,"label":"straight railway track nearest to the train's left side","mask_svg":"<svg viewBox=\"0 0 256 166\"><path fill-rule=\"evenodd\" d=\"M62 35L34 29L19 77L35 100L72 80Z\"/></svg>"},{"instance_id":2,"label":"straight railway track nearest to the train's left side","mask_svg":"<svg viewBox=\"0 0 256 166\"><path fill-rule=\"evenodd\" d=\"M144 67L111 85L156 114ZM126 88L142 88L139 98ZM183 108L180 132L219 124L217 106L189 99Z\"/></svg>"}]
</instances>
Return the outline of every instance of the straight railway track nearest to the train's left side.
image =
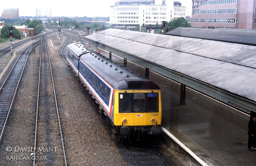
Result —
<instances>
[{"instance_id":1,"label":"straight railway track nearest to the train's left side","mask_svg":"<svg viewBox=\"0 0 256 166\"><path fill-rule=\"evenodd\" d=\"M48 153L47 160L34 160L33 166L64 164L67 166L47 39L41 44L34 148L47 149ZM34 157L45 156L39 151L38 154L34 153Z\"/></svg>"}]
</instances>

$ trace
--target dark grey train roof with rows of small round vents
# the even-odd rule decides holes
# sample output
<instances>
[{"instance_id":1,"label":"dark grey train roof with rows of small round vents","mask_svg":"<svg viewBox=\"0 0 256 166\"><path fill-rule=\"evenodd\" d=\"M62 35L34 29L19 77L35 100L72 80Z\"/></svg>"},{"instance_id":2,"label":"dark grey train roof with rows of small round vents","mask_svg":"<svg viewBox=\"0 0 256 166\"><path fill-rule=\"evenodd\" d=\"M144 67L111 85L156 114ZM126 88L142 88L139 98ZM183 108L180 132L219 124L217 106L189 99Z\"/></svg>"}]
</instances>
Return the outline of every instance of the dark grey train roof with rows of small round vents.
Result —
<instances>
[{"instance_id":1,"label":"dark grey train roof with rows of small round vents","mask_svg":"<svg viewBox=\"0 0 256 166\"><path fill-rule=\"evenodd\" d=\"M81 45L82 44L70 44L68 47L76 50L79 55L81 55L81 52L84 52L80 59L94 72L98 73L100 77L108 82L114 89L160 89L154 82L127 70L127 68L116 64L116 62L95 51L92 52L92 50L86 49L79 51L79 49L83 48Z\"/></svg>"}]
</instances>

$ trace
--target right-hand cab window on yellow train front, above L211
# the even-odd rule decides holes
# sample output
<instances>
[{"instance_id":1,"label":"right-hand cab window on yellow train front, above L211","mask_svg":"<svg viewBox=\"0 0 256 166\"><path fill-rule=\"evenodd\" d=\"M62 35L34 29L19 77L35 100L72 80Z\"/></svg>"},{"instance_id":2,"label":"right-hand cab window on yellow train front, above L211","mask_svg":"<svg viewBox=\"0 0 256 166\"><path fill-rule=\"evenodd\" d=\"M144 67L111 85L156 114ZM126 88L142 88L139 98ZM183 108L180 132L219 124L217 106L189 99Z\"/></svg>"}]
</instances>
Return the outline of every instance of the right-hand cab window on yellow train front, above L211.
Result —
<instances>
[{"instance_id":1,"label":"right-hand cab window on yellow train front, above L211","mask_svg":"<svg viewBox=\"0 0 256 166\"><path fill-rule=\"evenodd\" d=\"M158 112L158 93L147 94L147 112Z\"/></svg>"}]
</instances>

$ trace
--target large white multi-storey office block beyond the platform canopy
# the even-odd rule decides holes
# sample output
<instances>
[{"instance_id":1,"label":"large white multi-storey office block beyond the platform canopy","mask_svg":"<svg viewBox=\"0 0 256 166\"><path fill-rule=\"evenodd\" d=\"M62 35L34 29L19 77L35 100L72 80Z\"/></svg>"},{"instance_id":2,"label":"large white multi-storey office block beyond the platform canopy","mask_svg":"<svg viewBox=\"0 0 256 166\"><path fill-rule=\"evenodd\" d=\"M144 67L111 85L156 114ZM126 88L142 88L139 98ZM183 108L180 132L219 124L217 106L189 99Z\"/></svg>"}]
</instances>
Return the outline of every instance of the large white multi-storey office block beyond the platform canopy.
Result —
<instances>
[{"instance_id":1,"label":"large white multi-storey office block beyond the platform canopy","mask_svg":"<svg viewBox=\"0 0 256 166\"><path fill-rule=\"evenodd\" d=\"M171 21L173 0L122 0L110 6L109 23L116 28L159 25Z\"/></svg>"}]
</instances>

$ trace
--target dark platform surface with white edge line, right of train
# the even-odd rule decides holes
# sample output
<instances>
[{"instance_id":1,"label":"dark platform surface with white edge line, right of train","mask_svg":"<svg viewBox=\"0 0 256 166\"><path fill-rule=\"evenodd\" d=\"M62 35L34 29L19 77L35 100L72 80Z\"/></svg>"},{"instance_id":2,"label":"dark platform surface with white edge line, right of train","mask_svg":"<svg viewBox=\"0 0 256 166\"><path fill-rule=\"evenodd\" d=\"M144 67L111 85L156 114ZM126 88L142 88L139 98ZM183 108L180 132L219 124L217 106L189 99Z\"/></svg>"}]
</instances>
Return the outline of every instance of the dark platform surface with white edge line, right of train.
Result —
<instances>
[{"instance_id":1,"label":"dark platform surface with white edge line, right of train","mask_svg":"<svg viewBox=\"0 0 256 166\"><path fill-rule=\"evenodd\" d=\"M160 85L162 129L179 145L174 150L190 155L190 165L256 165L256 151L247 150L249 115L188 88L186 105L179 105L178 91L168 92L170 86L175 85Z\"/></svg>"}]
</instances>

